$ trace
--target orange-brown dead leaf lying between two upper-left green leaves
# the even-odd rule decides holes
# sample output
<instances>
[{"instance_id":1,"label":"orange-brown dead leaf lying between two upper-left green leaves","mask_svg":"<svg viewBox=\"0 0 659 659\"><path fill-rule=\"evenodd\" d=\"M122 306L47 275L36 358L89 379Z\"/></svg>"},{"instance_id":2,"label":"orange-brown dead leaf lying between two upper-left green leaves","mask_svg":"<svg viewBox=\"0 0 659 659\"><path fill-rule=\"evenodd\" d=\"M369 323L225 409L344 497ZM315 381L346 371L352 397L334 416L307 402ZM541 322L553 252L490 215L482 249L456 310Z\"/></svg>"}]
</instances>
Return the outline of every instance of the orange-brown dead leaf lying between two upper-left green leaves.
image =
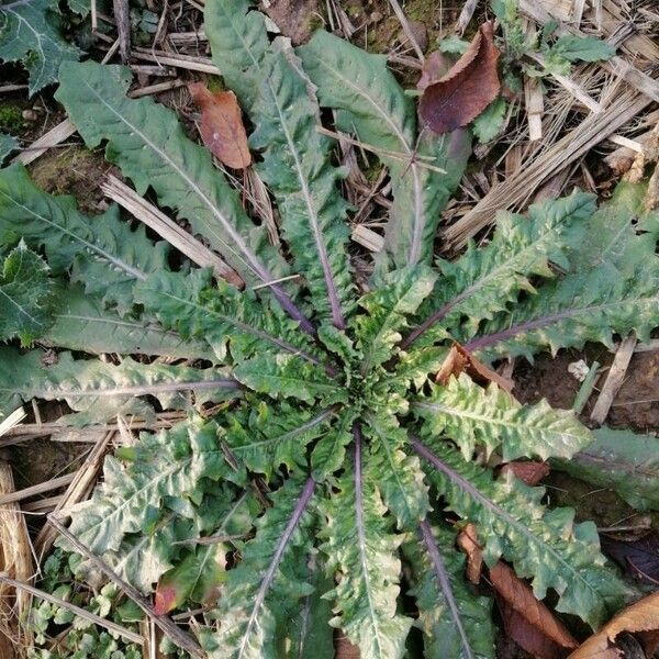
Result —
<instances>
[{"instance_id":1,"label":"orange-brown dead leaf lying between two upper-left green leaves","mask_svg":"<svg viewBox=\"0 0 659 659\"><path fill-rule=\"evenodd\" d=\"M248 167L252 154L236 94L233 91L213 93L202 82L190 82L188 90L201 110L199 132L209 150L227 167Z\"/></svg>"}]
</instances>

